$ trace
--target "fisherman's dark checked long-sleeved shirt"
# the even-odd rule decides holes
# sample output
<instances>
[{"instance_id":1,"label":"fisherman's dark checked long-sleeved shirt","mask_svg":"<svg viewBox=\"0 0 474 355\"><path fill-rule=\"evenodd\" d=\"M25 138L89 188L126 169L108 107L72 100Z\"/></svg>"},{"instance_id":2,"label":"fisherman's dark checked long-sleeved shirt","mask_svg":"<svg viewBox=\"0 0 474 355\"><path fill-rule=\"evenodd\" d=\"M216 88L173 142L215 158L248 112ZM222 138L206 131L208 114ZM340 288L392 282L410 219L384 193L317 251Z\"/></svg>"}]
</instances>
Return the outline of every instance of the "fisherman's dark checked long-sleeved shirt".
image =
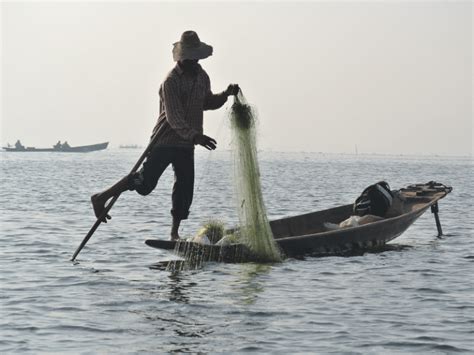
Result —
<instances>
[{"instance_id":1,"label":"fisherman's dark checked long-sleeved shirt","mask_svg":"<svg viewBox=\"0 0 474 355\"><path fill-rule=\"evenodd\" d=\"M203 111L220 108L227 101L222 92L213 94L209 76L200 65L197 74L185 73L179 64L160 87L160 115L154 132L158 146L189 146L203 133Z\"/></svg>"}]
</instances>

